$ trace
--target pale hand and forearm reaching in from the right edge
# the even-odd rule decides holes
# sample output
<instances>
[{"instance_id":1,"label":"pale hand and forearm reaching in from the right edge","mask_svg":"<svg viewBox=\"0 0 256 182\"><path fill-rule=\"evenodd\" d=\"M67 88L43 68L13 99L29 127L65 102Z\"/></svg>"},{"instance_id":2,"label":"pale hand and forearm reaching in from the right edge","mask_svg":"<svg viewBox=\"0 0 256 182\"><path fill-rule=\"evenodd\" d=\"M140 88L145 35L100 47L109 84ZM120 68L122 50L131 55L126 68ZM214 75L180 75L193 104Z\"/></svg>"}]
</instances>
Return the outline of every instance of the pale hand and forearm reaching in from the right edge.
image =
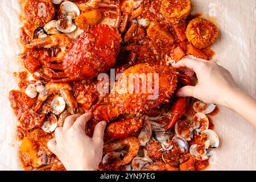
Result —
<instances>
[{"instance_id":1,"label":"pale hand and forearm reaching in from the right edge","mask_svg":"<svg viewBox=\"0 0 256 182\"><path fill-rule=\"evenodd\" d=\"M228 70L214 61L185 58L175 65L195 71L199 83L184 86L177 92L179 97L195 97L206 103L228 107L241 115L256 129L256 100L239 89Z\"/></svg>"}]
</instances>

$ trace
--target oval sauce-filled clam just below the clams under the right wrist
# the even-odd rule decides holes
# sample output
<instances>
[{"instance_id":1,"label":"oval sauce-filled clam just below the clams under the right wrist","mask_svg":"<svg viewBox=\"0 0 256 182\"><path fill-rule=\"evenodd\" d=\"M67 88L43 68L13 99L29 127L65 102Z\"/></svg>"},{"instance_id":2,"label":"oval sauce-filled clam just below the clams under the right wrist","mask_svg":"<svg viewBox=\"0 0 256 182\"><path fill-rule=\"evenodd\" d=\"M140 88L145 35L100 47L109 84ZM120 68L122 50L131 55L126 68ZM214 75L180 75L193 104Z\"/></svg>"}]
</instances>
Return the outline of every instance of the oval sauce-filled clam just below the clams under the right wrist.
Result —
<instances>
[{"instance_id":1,"label":"oval sauce-filled clam just below the clams under the right wrist","mask_svg":"<svg viewBox=\"0 0 256 182\"><path fill-rule=\"evenodd\" d=\"M197 133L209 128L209 119L204 113L196 113L193 117L193 128Z\"/></svg>"}]
</instances>

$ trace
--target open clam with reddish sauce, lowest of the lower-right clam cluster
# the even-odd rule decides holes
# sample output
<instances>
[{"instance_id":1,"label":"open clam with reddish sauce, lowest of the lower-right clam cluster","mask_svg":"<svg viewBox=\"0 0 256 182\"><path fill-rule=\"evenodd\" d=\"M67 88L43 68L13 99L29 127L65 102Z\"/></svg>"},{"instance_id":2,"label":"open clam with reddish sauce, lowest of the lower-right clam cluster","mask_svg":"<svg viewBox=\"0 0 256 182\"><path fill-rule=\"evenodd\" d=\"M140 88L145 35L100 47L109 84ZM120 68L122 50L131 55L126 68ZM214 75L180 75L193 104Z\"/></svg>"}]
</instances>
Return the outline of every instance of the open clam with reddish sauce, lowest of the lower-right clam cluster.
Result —
<instances>
[{"instance_id":1,"label":"open clam with reddish sauce, lowest of the lower-right clam cluster","mask_svg":"<svg viewBox=\"0 0 256 182\"><path fill-rule=\"evenodd\" d=\"M207 160L209 159L209 153L207 148L209 147L210 141L207 140L205 142L205 146L202 149L199 144L192 144L192 146L189 148L189 152L191 156L196 160ZM200 151L200 152L199 152Z\"/></svg>"}]
</instances>

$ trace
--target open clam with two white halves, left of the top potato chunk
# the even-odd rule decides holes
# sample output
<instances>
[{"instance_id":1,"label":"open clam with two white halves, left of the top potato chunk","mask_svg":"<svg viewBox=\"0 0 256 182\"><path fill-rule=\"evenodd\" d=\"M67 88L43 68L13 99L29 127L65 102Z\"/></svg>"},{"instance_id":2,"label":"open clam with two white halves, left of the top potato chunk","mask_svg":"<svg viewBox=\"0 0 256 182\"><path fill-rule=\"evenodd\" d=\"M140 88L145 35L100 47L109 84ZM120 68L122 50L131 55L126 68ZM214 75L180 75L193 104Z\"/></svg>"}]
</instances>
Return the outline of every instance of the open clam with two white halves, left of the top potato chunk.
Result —
<instances>
[{"instance_id":1,"label":"open clam with two white halves, left of the top potato chunk","mask_svg":"<svg viewBox=\"0 0 256 182\"><path fill-rule=\"evenodd\" d=\"M76 30L77 26L73 23L73 19L80 15L79 7L73 2L65 1L60 5L60 10L65 18L57 20L56 28L60 32L69 33Z\"/></svg>"}]
</instances>

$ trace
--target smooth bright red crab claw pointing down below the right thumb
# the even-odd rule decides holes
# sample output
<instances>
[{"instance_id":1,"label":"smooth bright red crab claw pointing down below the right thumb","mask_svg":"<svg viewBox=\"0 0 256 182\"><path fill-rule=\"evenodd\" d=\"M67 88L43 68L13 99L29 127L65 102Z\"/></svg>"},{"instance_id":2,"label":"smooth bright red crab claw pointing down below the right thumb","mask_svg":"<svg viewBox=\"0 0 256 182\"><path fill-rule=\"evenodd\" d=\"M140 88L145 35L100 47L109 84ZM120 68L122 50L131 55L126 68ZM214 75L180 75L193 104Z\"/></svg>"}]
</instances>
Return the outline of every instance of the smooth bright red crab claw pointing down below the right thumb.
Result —
<instances>
[{"instance_id":1,"label":"smooth bright red crab claw pointing down below the right thumb","mask_svg":"<svg viewBox=\"0 0 256 182\"><path fill-rule=\"evenodd\" d=\"M188 97L180 97L175 101L174 105L172 106L171 121L164 129L165 131L170 130L175 125L175 123L179 121L180 117L185 114L188 99Z\"/></svg>"}]
</instances>

